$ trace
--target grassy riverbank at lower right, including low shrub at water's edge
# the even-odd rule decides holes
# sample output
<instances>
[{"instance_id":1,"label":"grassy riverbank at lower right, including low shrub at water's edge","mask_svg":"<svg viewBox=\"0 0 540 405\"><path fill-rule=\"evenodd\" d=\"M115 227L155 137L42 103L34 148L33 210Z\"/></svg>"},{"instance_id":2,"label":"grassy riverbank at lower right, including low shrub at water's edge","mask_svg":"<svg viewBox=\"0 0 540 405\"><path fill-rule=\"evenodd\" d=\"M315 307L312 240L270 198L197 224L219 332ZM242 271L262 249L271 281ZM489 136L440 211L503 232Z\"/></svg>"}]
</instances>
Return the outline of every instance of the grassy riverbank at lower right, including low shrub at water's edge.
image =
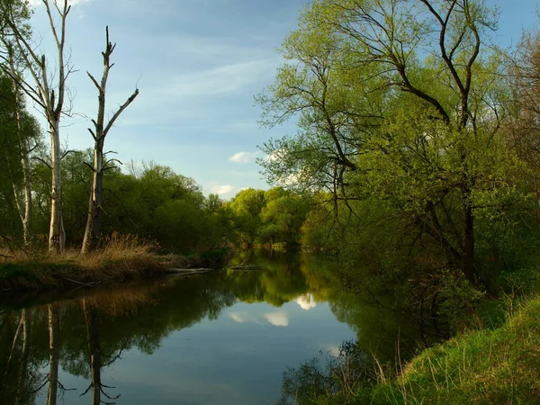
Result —
<instances>
[{"instance_id":1,"label":"grassy riverbank at lower right, including low shrub at water's edge","mask_svg":"<svg viewBox=\"0 0 540 405\"><path fill-rule=\"evenodd\" d=\"M356 350L331 363L328 372L320 374L315 369L318 378L310 374L311 365L290 373L284 392L296 399L281 403L536 404L540 398L540 296L510 306L507 320L499 327L458 334L420 352L397 370ZM396 372L397 376L388 374Z\"/></svg>"}]
</instances>

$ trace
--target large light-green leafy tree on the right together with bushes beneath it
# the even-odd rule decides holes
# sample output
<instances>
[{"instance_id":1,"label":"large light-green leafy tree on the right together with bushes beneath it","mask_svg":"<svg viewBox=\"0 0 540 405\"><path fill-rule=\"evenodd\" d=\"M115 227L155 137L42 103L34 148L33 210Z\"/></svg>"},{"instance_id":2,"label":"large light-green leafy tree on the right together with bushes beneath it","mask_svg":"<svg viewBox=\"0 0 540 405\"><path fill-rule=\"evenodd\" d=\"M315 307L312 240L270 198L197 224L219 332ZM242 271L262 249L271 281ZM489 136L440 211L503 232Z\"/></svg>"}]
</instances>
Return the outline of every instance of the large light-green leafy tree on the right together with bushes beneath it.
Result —
<instances>
[{"instance_id":1,"label":"large light-green leafy tree on the right together with bushes beneath it","mask_svg":"<svg viewBox=\"0 0 540 405\"><path fill-rule=\"evenodd\" d=\"M272 183L315 191L306 245L356 268L369 261L372 275L455 268L491 287L510 266L534 209L505 130L495 26L482 0L306 7L257 97L263 124L298 119L298 133L267 142L259 163Z\"/></svg>"}]
</instances>

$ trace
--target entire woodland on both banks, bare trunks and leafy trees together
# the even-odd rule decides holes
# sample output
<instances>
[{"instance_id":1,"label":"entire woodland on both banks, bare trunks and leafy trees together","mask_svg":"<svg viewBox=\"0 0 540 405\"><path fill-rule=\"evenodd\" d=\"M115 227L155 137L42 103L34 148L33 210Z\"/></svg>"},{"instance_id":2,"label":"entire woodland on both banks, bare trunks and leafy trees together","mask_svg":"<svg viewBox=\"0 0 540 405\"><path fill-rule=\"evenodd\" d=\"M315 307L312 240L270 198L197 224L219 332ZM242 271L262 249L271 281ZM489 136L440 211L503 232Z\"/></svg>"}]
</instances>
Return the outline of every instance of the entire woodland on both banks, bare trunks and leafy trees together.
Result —
<instances>
[{"instance_id":1,"label":"entire woodland on both banks, bare trunks and leafy trees together","mask_svg":"<svg viewBox=\"0 0 540 405\"><path fill-rule=\"evenodd\" d=\"M4 266L61 262L67 252L82 262L118 238L157 257L253 247L317 252L339 265L344 289L399 290L410 308L445 320L447 337L477 320L485 325L486 302L532 300L540 291L540 31L503 48L489 2L308 4L279 49L275 82L255 97L263 126L295 121L297 131L260 147L272 188L247 188L228 201L204 195L169 166L122 165L107 152L114 121L144 97L137 88L125 94L105 120L116 46L108 29L103 77L88 73L98 94L88 123L93 148L65 147L71 6L43 1L58 48L49 61L32 46L29 4L0 4ZM356 393L372 396L372 388ZM540 392L537 384L531 390Z\"/></svg>"}]
</instances>

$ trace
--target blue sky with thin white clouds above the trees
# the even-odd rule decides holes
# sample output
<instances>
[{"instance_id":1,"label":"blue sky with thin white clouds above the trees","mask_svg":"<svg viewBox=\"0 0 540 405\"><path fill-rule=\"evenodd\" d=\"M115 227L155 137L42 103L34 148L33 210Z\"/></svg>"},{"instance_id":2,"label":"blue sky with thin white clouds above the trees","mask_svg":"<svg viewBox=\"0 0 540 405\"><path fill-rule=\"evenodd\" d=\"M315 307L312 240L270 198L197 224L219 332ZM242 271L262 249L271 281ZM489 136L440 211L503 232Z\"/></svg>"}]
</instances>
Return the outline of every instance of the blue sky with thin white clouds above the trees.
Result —
<instances>
[{"instance_id":1,"label":"blue sky with thin white clouds above the trees","mask_svg":"<svg viewBox=\"0 0 540 405\"><path fill-rule=\"evenodd\" d=\"M61 2L62 0L58 0ZM87 128L97 92L86 71L101 78L105 26L112 42L107 87L110 117L136 87L139 96L107 136L121 161L154 161L193 177L203 193L228 199L247 187L268 188L256 157L270 138L293 134L293 122L260 128L254 96L284 62L276 49L296 28L305 0L70 0L67 47L74 116L63 121L69 149L92 148ZM32 17L40 49L49 55L49 23L41 0ZM486 0L499 7L497 40L516 44L540 21L536 0ZM53 55L50 56L53 60ZM37 113L37 112L36 112Z\"/></svg>"}]
</instances>

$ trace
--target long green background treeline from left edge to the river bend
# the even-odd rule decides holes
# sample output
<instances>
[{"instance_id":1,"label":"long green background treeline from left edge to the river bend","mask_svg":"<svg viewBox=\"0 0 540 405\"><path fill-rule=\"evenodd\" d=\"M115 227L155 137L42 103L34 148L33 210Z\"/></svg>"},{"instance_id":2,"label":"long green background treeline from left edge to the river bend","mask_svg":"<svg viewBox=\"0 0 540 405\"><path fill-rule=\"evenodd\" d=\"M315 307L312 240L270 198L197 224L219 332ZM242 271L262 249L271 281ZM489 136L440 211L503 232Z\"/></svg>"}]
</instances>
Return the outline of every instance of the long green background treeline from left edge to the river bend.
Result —
<instances>
[{"instance_id":1,"label":"long green background treeline from left edge to the river bend","mask_svg":"<svg viewBox=\"0 0 540 405\"><path fill-rule=\"evenodd\" d=\"M4 148L8 151L9 149ZM8 155L14 155L12 149ZM34 206L32 233L35 245L46 246L49 231L50 169L44 157L31 162ZM88 194L92 184L92 150L72 151L62 160L63 222L67 247L80 247L85 232ZM128 162L103 174L103 239L113 234L137 236L156 242L159 251L190 254L222 247L248 248L281 245L285 249L325 247L320 223L313 222L317 207L310 193L293 193L283 187L248 188L230 201L217 194L205 196L193 178L176 174L153 162L139 166ZM0 225L4 243L23 245L23 224L17 214L13 188L17 180L2 174L4 202ZM324 219L320 219L324 220ZM313 228L313 229L312 229ZM316 240L313 233L320 233ZM315 241L315 243L312 243Z\"/></svg>"}]
</instances>

